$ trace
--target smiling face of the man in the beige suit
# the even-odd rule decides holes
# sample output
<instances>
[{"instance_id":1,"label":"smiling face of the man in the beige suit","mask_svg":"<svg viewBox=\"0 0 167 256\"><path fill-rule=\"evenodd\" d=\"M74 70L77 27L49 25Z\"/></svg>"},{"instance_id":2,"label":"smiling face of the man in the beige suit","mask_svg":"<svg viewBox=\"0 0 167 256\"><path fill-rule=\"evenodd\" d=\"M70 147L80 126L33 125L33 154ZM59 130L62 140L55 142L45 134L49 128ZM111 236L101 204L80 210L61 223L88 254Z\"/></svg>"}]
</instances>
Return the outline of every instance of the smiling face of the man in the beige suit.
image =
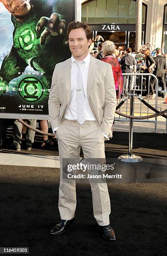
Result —
<instances>
[{"instance_id":1,"label":"smiling face of the man in the beige suit","mask_svg":"<svg viewBox=\"0 0 167 256\"><path fill-rule=\"evenodd\" d=\"M83 28L72 29L68 42L72 56L80 61L85 59L91 44L91 39L87 39L85 30Z\"/></svg>"}]
</instances>

